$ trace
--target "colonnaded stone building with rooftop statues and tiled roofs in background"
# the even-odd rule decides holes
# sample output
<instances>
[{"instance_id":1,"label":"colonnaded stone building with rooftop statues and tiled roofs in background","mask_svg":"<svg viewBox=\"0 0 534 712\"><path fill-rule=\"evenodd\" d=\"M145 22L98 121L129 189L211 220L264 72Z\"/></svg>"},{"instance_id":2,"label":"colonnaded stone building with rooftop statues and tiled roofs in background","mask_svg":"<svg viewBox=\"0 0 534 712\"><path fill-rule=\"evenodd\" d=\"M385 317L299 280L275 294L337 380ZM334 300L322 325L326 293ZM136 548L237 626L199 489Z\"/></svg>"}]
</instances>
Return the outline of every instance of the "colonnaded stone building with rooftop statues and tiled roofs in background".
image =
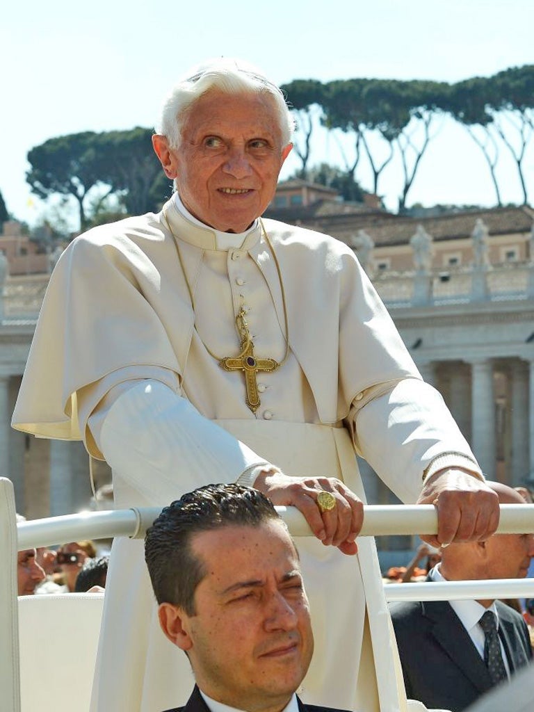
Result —
<instances>
[{"instance_id":1,"label":"colonnaded stone building with rooftop statues and tiled roofs in background","mask_svg":"<svg viewBox=\"0 0 534 712\"><path fill-rule=\"evenodd\" d=\"M267 216L351 246L488 478L534 481L532 209L414 219L291 181L281 184ZM17 508L28 518L80 511L91 496L83 445L35 439L9 425L48 273L9 274L8 264L2 280L0 474L14 481ZM394 501L365 463L362 471L371 503ZM96 486L109 478L108 467L95 463ZM383 543L399 555L412 544Z\"/></svg>"}]
</instances>

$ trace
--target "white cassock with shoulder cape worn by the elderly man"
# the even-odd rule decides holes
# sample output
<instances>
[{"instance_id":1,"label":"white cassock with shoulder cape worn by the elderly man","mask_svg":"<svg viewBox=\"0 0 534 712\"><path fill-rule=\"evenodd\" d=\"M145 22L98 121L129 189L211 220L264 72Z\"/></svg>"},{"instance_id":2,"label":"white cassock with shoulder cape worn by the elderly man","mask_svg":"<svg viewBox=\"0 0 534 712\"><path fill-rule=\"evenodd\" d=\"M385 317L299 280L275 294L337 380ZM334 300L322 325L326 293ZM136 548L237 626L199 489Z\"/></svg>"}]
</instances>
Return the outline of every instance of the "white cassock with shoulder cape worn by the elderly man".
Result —
<instances>
[{"instance_id":1,"label":"white cassock with shoulder cape worn by the elderly man","mask_svg":"<svg viewBox=\"0 0 534 712\"><path fill-rule=\"evenodd\" d=\"M14 427L83 438L113 468L117 508L164 506L264 461L290 475L338 477L363 499L355 450L407 503L428 468L479 472L345 244L264 221L280 279L258 221L229 235L200 224L177 197L164 210L181 260L163 214L98 227L63 253ZM258 375L256 414L241 372L214 357L239 352L241 306L257 358L281 361L286 336L290 346L278 370ZM404 709L374 540L360 538L357 557L311 538L297 544L315 633L303 699ZM93 710L157 712L183 704L192 684L186 657L159 630L142 542L116 540Z\"/></svg>"}]
</instances>

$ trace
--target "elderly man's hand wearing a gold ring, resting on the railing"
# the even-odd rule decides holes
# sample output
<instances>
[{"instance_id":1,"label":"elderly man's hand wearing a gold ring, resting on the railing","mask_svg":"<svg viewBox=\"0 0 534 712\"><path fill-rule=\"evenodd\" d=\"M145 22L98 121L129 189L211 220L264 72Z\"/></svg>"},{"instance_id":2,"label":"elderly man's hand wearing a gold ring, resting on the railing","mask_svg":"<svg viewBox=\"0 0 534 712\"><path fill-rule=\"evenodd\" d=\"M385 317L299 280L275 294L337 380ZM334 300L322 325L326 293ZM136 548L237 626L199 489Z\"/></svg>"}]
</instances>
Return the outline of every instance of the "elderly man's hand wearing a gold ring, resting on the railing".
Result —
<instances>
[{"instance_id":1,"label":"elderly man's hand wearing a gold ring, resting on the railing","mask_svg":"<svg viewBox=\"0 0 534 712\"><path fill-rule=\"evenodd\" d=\"M342 481L335 477L290 477L281 472L261 472L254 487L275 506L296 507L325 546L336 546L348 555L357 553L355 539L362 528L363 503ZM320 511L317 497L321 491L335 497L335 508Z\"/></svg>"}]
</instances>

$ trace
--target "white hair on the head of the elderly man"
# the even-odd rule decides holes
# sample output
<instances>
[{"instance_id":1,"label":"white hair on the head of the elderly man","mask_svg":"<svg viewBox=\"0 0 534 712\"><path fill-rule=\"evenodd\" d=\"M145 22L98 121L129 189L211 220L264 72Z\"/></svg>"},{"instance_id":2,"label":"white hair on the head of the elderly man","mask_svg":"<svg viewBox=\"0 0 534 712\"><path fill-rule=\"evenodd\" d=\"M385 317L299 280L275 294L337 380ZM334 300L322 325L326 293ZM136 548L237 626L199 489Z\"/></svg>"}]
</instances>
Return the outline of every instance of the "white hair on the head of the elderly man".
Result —
<instances>
[{"instance_id":1,"label":"white hair on the head of the elderly man","mask_svg":"<svg viewBox=\"0 0 534 712\"><path fill-rule=\"evenodd\" d=\"M226 94L270 95L278 113L282 144L288 145L295 130L295 122L281 89L248 63L219 58L192 68L164 101L156 131L167 137L171 148L176 150L182 141L182 127L188 110L211 89Z\"/></svg>"}]
</instances>

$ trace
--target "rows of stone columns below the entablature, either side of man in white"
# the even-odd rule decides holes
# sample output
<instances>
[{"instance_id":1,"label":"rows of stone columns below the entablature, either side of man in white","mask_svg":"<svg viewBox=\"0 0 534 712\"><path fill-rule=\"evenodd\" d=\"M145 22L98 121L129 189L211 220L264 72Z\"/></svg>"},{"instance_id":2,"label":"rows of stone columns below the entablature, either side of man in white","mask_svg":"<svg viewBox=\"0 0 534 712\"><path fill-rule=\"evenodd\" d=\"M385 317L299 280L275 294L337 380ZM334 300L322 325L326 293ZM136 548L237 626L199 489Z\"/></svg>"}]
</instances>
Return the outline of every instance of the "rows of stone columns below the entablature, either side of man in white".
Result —
<instances>
[{"instance_id":1,"label":"rows of stone columns below the entablature, either side of man in white","mask_svg":"<svg viewBox=\"0 0 534 712\"><path fill-rule=\"evenodd\" d=\"M418 367L443 394L486 476L513 486L534 483L534 359L477 357ZM91 492L83 445L11 429L19 383L20 377L0 376L0 475L14 481L17 507L31 518L87 507ZM387 493L365 464L362 476L370 503L383 502Z\"/></svg>"}]
</instances>

